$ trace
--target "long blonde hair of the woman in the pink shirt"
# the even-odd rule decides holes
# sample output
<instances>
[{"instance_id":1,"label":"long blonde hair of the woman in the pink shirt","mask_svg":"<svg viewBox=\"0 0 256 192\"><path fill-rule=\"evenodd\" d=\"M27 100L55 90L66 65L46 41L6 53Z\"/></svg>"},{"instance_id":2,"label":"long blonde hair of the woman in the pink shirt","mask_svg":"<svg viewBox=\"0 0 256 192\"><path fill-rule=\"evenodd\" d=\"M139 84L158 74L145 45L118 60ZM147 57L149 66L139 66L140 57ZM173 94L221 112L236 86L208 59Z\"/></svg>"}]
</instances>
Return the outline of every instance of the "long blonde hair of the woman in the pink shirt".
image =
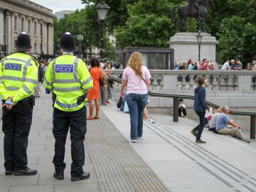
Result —
<instances>
[{"instance_id":1,"label":"long blonde hair of the woman in the pink shirt","mask_svg":"<svg viewBox=\"0 0 256 192\"><path fill-rule=\"evenodd\" d=\"M134 52L130 56L127 66L132 68L136 75L142 78L142 54L139 52Z\"/></svg>"}]
</instances>

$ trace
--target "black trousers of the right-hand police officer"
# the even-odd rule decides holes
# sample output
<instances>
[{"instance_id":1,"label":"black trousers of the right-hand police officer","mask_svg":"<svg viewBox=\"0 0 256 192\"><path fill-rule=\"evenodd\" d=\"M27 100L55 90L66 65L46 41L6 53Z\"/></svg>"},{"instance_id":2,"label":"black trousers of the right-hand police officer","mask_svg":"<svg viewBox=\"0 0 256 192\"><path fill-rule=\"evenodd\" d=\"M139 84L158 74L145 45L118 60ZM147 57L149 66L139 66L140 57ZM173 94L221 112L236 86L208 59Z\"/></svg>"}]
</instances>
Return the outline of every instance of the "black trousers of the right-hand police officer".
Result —
<instances>
[{"instance_id":1,"label":"black trousers of the right-hand police officer","mask_svg":"<svg viewBox=\"0 0 256 192\"><path fill-rule=\"evenodd\" d=\"M71 139L71 176L80 177L85 165L85 133L86 133L86 108L75 112L64 112L54 108L53 110L53 135L55 137L55 156L53 164L56 173L62 173L65 169L65 142L70 127Z\"/></svg>"}]
</instances>

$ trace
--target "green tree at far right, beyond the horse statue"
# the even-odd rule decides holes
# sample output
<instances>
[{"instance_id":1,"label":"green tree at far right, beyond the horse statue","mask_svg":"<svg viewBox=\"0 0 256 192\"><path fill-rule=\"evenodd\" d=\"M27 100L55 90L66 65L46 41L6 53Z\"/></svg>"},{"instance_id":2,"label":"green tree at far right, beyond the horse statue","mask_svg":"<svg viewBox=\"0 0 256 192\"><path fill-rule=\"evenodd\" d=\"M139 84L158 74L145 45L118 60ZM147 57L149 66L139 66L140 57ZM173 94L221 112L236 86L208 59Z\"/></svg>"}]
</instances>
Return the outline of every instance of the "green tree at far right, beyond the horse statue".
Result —
<instances>
[{"instance_id":1,"label":"green tree at far right, beyond the horse statue","mask_svg":"<svg viewBox=\"0 0 256 192\"><path fill-rule=\"evenodd\" d=\"M223 60L256 56L256 1L215 0L207 19L208 32L217 36Z\"/></svg>"}]
</instances>

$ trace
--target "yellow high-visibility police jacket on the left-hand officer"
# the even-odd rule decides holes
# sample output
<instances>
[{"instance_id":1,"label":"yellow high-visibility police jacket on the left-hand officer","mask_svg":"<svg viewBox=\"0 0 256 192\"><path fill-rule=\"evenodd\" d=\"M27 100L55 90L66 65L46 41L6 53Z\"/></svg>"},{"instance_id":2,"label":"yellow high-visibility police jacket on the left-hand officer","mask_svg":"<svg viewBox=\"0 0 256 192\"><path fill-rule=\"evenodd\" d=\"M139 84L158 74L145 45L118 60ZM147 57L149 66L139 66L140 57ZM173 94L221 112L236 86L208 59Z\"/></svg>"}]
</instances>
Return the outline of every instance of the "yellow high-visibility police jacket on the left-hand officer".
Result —
<instances>
[{"instance_id":1,"label":"yellow high-visibility police jacket on the left-hand officer","mask_svg":"<svg viewBox=\"0 0 256 192\"><path fill-rule=\"evenodd\" d=\"M0 61L0 95L18 102L33 95L38 80L38 62L31 55L16 52Z\"/></svg>"}]
</instances>

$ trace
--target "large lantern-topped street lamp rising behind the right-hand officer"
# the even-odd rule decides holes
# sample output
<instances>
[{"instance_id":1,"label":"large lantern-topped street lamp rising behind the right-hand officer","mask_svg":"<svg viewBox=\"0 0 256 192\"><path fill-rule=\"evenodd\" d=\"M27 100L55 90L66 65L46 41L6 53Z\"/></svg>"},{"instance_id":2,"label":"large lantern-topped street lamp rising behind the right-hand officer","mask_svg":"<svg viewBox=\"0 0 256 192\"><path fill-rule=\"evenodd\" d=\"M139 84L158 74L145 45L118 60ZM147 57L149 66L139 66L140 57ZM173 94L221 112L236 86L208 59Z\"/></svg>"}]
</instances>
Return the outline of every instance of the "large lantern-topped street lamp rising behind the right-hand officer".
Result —
<instances>
[{"instance_id":1,"label":"large lantern-topped street lamp rising behind the right-hand officer","mask_svg":"<svg viewBox=\"0 0 256 192\"><path fill-rule=\"evenodd\" d=\"M107 11L110 9L110 7L105 4L105 1L101 1L101 3L97 5L96 9L98 14L98 21L100 23L100 59L103 59L103 31L105 20L107 18Z\"/></svg>"}]
</instances>

